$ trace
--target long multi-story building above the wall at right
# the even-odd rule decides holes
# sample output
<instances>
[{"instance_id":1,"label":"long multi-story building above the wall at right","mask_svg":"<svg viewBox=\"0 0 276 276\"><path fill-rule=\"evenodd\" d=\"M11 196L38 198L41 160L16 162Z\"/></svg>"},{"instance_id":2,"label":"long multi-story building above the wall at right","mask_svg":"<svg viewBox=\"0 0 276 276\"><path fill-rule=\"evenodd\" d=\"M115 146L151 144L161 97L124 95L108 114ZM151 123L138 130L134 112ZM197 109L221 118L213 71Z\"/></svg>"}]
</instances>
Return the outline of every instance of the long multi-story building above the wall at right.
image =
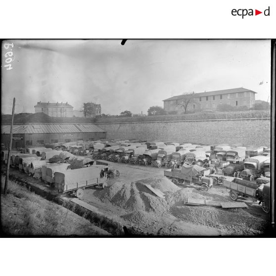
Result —
<instances>
[{"instance_id":1,"label":"long multi-story building above the wall at right","mask_svg":"<svg viewBox=\"0 0 276 276\"><path fill-rule=\"evenodd\" d=\"M173 96L164 101L164 110L167 112L177 111L183 113L184 104L190 98L186 111L198 111L204 109L216 110L219 104L229 104L231 106L247 106L251 108L255 104L255 94L249 89L233 88L227 90L210 91L202 93L189 93Z\"/></svg>"}]
</instances>

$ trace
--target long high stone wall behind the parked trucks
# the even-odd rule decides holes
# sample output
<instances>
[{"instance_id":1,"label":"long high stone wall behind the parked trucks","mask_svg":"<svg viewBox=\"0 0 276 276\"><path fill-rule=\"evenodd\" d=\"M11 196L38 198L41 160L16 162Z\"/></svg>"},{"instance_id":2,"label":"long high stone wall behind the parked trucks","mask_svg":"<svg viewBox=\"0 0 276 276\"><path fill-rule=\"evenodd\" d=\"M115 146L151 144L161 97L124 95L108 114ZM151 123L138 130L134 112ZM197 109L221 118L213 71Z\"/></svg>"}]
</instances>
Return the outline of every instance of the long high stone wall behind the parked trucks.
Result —
<instances>
[{"instance_id":1,"label":"long high stone wall behind the parked trucks","mask_svg":"<svg viewBox=\"0 0 276 276\"><path fill-rule=\"evenodd\" d=\"M270 147L270 118L100 123L106 138L241 144Z\"/></svg>"}]
</instances>

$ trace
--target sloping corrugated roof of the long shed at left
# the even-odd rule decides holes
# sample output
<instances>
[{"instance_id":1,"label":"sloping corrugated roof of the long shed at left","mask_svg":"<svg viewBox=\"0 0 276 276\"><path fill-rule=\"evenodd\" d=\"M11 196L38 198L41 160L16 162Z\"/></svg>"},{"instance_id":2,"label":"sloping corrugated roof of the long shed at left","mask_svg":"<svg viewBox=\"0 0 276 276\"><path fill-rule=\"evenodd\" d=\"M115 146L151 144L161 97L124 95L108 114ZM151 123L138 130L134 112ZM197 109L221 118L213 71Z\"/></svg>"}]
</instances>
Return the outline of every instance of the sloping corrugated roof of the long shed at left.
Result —
<instances>
[{"instance_id":1,"label":"sloping corrugated roof of the long shed at left","mask_svg":"<svg viewBox=\"0 0 276 276\"><path fill-rule=\"evenodd\" d=\"M91 133L106 132L93 124L16 124L13 125L13 134L37 133ZM1 134L9 134L10 125L1 125Z\"/></svg>"}]
</instances>

